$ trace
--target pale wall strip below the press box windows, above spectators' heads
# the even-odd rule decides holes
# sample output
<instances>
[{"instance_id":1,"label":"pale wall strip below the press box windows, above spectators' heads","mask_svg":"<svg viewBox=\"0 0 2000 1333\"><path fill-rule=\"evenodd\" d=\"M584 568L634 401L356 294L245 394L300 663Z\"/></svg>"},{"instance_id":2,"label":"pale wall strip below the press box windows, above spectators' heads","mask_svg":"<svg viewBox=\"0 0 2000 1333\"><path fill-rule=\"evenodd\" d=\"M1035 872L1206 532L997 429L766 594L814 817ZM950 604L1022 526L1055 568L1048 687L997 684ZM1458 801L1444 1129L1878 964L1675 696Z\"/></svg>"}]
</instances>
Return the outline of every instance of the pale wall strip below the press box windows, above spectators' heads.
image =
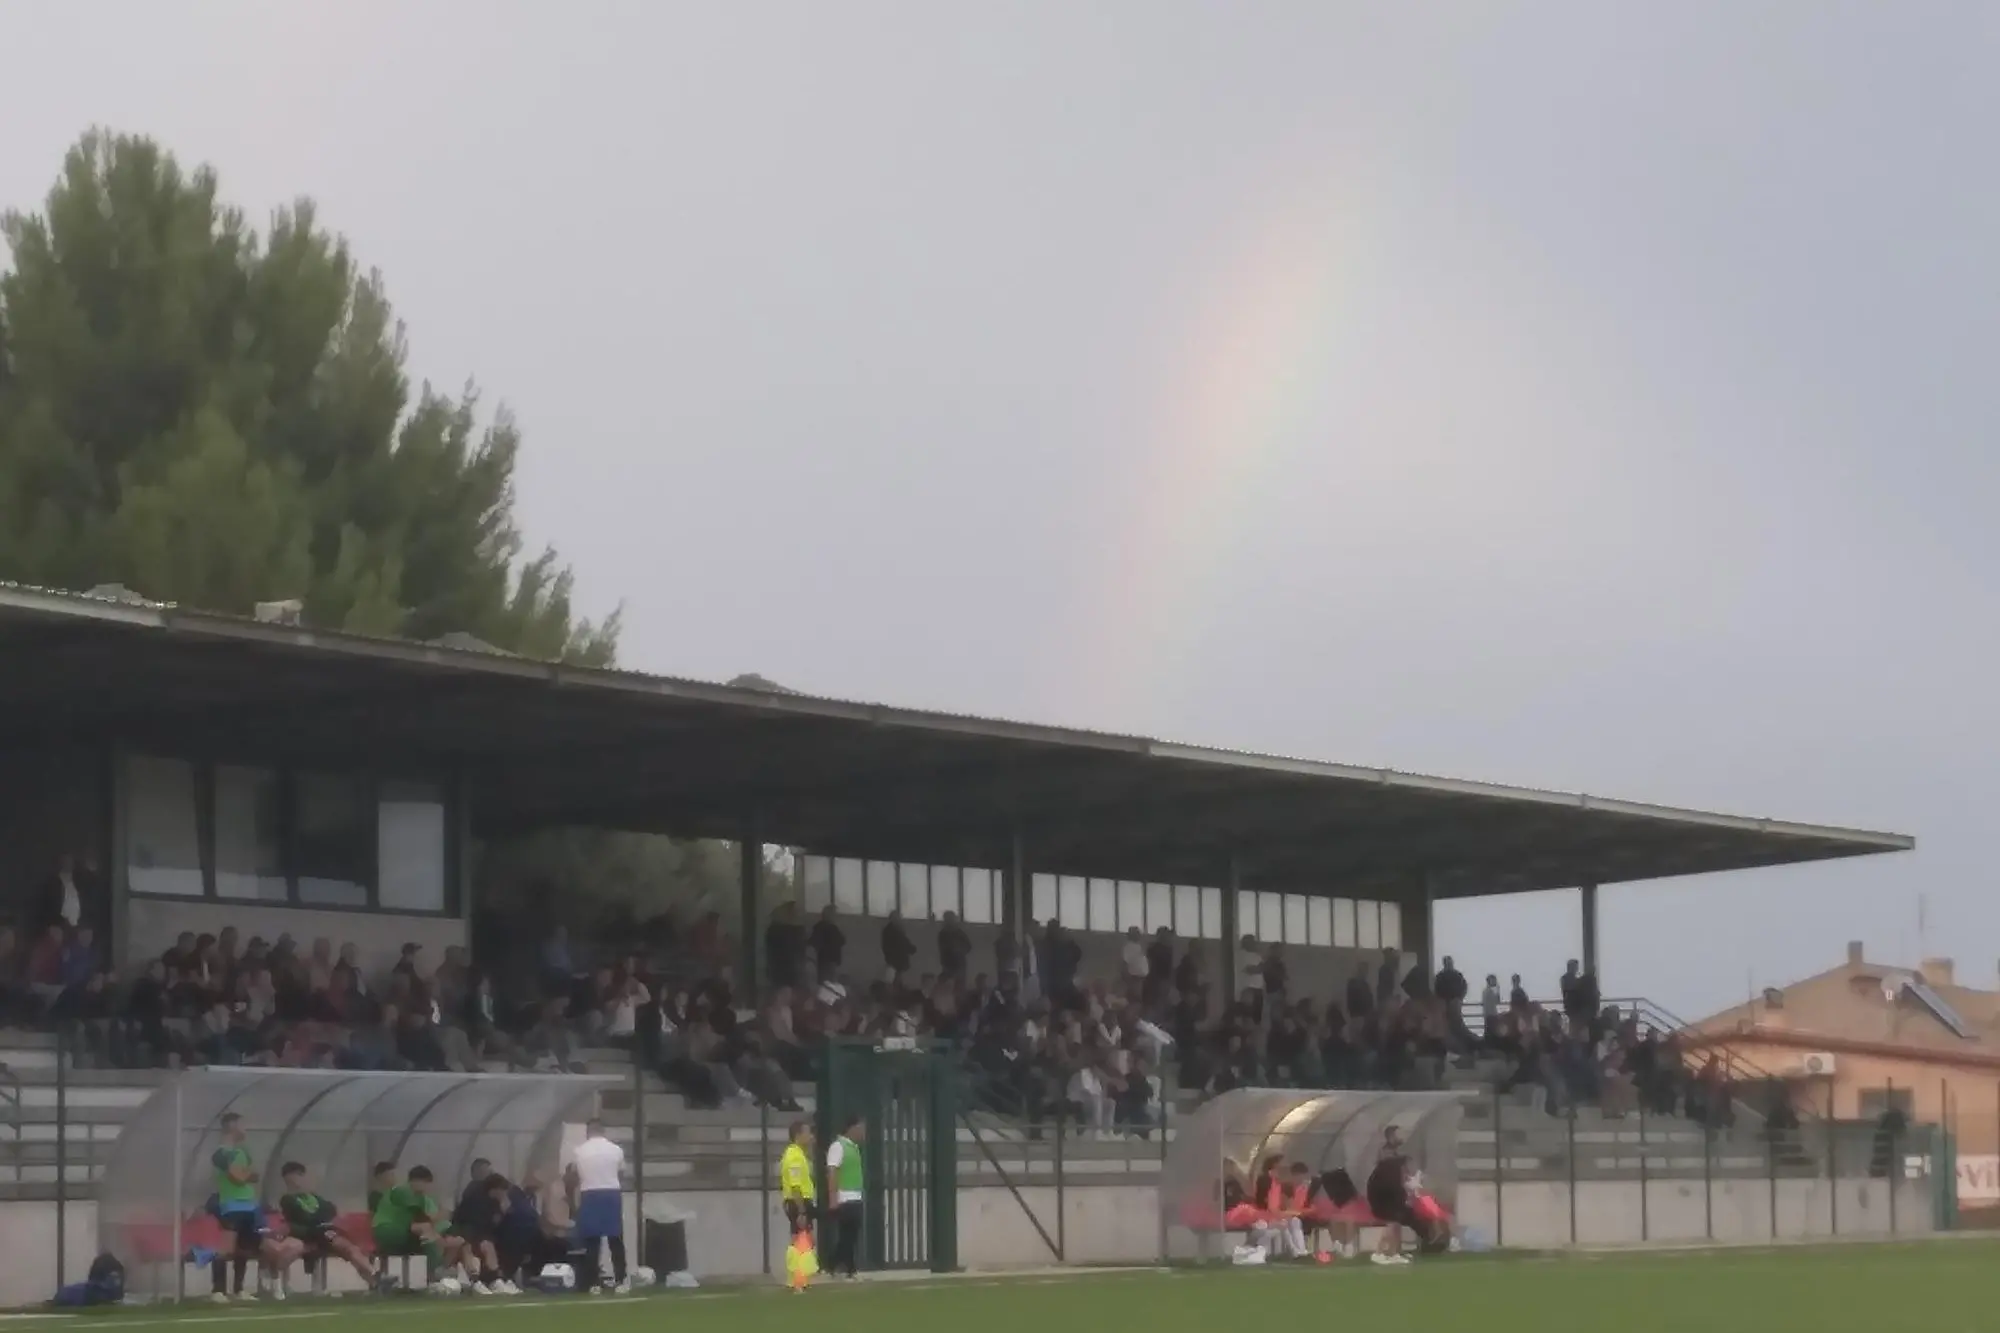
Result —
<instances>
[{"instance_id":1,"label":"pale wall strip below the press box windows, above spectators' heads","mask_svg":"<svg viewBox=\"0 0 2000 1333\"><path fill-rule=\"evenodd\" d=\"M302 951L312 949L312 941L330 939L334 947L352 943L360 949L362 967L370 979L378 979L396 965L396 957L406 943L424 947L426 963L438 965L448 945L466 943L466 923L458 917L404 917L396 913L338 913L312 907L286 907L282 903L212 903L208 899L140 899L126 905L126 961L128 967L160 957L172 947L182 931L196 935L218 935L222 927L236 927L248 941L262 935L276 943L280 935L290 935Z\"/></svg>"}]
</instances>

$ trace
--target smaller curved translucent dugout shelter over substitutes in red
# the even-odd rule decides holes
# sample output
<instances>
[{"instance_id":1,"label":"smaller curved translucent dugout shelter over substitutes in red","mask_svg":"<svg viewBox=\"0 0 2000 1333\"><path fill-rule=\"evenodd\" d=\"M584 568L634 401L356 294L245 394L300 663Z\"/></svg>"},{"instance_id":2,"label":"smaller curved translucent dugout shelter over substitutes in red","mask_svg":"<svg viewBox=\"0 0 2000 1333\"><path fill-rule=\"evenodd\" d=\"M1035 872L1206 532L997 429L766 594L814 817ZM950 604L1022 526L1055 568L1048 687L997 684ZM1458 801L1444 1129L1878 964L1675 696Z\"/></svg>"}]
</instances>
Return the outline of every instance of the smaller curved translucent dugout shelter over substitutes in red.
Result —
<instances>
[{"instance_id":1,"label":"smaller curved translucent dugout shelter over substitutes in red","mask_svg":"<svg viewBox=\"0 0 2000 1333\"><path fill-rule=\"evenodd\" d=\"M1266 1157L1282 1157L1286 1171L1300 1161L1314 1175L1340 1169L1356 1189L1366 1189L1390 1127L1424 1173L1424 1189L1452 1209L1464 1101L1456 1093L1244 1087L1212 1097L1180 1119L1166 1145L1160 1169L1166 1257L1224 1253L1222 1183L1234 1177L1248 1189Z\"/></svg>"}]
</instances>

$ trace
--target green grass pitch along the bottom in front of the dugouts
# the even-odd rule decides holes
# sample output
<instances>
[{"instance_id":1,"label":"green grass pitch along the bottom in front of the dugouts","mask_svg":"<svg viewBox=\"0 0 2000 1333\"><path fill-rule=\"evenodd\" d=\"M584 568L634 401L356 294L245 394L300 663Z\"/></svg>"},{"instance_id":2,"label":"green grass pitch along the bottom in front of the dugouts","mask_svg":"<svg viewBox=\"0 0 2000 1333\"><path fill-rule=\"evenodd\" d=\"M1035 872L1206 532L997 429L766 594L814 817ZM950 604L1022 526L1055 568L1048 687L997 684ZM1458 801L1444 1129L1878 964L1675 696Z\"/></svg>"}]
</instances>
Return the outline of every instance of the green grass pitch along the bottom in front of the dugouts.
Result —
<instances>
[{"instance_id":1,"label":"green grass pitch along the bottom in front of the dugouts","mask_svg":"<svg viewBox=\"0 0 2000 1333\"><path fill-rule=\"evenodd\" d=\"M2000 1247L1984 1239L1778 1251L1442 1257L1144 1273L1050 1273L670 1291L646 1297L294 1297L286 1305L82 1311L72 1329L242 1333L1994 1333Z\"/></svg>"}]
</instances>

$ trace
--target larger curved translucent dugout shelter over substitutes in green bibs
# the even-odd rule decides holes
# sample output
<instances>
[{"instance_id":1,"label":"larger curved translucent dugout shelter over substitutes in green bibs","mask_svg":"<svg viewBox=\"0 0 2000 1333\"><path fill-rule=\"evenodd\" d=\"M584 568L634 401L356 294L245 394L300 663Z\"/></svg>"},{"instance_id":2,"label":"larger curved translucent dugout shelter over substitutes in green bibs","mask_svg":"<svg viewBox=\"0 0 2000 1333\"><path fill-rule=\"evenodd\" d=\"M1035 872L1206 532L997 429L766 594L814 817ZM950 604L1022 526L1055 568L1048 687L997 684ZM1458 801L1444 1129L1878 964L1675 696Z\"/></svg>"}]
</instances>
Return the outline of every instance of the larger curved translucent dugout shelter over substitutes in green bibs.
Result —
<instances>
[{"instance_id":1,"label":"larger curved translucent dugout shelter over substitutes in green bibs","mask_svg":"<svg viewBox=\"0 0 2000 1333\"><path fill-rule=\"evenodd\" d=\"M616 1079L584 1075L186 1069L132 1113L98 1179L98 1249L118 1255L134 1295L170 1297L196 1219L216 1193L220 1119L242 1117L260 1199L276 1209L280 1167L302 1163L340 1211L366 1207L374 1163L430 1167L446 1207L484 1157L512 1181L554 1171L564 1125L588 1119ZM158 1287L158 1289L150 1289Z\"/></svg>"}]
</instances>

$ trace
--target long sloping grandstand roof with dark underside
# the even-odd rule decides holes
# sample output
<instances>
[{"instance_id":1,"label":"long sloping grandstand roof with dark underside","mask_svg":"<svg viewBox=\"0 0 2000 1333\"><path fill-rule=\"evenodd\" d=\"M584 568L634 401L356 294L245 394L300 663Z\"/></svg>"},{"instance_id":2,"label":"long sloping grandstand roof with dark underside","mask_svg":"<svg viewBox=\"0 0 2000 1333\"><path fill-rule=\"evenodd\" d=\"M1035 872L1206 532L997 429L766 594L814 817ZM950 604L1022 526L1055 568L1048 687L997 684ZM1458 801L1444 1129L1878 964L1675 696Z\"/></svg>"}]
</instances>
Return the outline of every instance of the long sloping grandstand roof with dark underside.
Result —
<instances>
[{"instance_id":1,"label":"long sloping grandstand roof with dark underside","mask_svg":"<svg viewBox=\"0 0 2000 1333\"><path fill-rule=\"evenodd\" d=\"M1904 851L1912 839L1146 737L568 666L0 584L0 745L452 767L486 831L602 825L812 851L1408 899Z\"/></svg>"}]
</instances>

